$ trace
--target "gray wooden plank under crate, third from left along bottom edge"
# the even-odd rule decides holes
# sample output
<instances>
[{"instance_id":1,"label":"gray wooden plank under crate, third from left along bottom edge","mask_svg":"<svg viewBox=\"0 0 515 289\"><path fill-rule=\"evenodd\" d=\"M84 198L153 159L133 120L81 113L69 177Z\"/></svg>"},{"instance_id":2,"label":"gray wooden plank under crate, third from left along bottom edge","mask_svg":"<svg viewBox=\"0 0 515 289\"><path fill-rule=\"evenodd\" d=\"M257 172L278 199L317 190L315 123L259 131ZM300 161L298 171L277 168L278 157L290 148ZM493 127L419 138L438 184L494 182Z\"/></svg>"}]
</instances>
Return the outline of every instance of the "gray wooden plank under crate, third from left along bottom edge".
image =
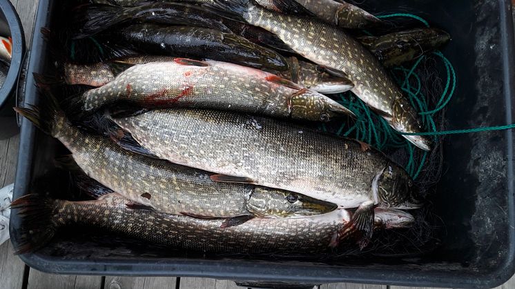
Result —
<instances>
[{"instance_id":1,"label":"gray wooden plank under crate, third from left along bottom edge","mask_svg":"<svg viewBox=\"0 0 515 289\"><path fill-rule=\"evenodd\" d=\"M106 289L175 289L177 278L108 276Z\"/></svg>"}]
</instances>

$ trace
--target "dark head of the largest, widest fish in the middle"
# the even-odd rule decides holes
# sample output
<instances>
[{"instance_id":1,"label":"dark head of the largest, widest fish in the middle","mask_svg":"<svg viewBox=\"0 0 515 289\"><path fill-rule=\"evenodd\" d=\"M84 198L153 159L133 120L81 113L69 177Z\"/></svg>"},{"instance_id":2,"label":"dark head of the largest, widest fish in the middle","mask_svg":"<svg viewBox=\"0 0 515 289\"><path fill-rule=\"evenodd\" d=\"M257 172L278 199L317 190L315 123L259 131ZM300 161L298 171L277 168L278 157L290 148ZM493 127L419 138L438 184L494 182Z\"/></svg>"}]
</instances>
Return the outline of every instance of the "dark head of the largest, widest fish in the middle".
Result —
<instances>
[{"instance_id":1,"label":"dark head of the largest, widest fish in the middle","mask_svg":"<svg viewBox=\"0 0 515 289\"><path fill-rule=\"evenodd\" d=\"M389 162L373 181L372 190L380 208L416 209L422 196L404 168Z\"/></svg>"}]
</instances>

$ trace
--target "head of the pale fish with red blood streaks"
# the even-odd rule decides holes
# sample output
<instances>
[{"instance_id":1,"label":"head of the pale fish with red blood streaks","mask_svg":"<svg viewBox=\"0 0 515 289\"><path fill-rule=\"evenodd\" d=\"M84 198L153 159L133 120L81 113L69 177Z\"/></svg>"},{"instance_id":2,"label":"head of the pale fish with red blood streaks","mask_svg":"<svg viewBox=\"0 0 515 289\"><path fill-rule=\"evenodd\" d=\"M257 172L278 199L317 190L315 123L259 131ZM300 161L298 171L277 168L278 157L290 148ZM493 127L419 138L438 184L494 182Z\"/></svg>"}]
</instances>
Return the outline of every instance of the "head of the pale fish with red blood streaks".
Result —
<instances>
[{"instance_id":1,"label":"head of the pale fish with red blood streaks","mask_svg":"<svg viewBox=\"0 0 515 289\"><path fill-rule=\"evenodd\" d=\"M353 112L333 101L333 99L305 88L291 97L290 109L290 115L293 119L308 119L311 121L327 122L342 114L355 116Z\"/></svg>"}]
</instances>

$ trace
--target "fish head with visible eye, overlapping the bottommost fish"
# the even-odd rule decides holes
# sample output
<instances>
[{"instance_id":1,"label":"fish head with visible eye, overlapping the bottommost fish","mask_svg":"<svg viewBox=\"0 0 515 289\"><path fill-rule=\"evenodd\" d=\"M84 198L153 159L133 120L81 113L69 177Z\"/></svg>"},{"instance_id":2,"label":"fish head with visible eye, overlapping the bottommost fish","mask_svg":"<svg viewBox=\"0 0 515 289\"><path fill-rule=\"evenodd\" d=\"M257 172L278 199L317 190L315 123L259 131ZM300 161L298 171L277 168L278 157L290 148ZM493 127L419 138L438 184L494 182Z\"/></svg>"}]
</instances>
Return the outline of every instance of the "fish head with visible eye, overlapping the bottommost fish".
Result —
<instances>
[{"instance_id":1,"label":"fish head with visible eye, overlapping the bottommost fish","mask_svg":"<svg viewBox=\"0 0 515 289\"><path fill-rule=\"evenodd\" d=\"M256 187L246 202L246 208L257 217L292 218L321 215L336 210L338 206L295 192Z\"/></svg>"}]
</instances>

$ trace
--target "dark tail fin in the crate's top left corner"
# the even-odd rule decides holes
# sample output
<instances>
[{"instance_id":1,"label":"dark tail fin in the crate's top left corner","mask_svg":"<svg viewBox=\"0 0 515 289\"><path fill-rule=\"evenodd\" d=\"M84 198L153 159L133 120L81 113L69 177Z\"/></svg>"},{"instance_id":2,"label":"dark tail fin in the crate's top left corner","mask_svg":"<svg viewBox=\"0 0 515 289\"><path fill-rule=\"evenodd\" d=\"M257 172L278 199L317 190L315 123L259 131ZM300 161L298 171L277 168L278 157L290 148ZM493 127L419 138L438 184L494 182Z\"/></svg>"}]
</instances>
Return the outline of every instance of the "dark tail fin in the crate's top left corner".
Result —
<instances>
[{"instance_id":1,"label":"dark tail fin in the crate's top left corner","mask_svg":"<svg viewBox=\"0 0 515 289\"><path fill-rule=\"evenodd\" d=\"M84 23L74 39L84 39L104 30L129 21L135 16L133 8L111 5L88 5L77 13L76 21Z\"/></svg>"}]
</instances>

